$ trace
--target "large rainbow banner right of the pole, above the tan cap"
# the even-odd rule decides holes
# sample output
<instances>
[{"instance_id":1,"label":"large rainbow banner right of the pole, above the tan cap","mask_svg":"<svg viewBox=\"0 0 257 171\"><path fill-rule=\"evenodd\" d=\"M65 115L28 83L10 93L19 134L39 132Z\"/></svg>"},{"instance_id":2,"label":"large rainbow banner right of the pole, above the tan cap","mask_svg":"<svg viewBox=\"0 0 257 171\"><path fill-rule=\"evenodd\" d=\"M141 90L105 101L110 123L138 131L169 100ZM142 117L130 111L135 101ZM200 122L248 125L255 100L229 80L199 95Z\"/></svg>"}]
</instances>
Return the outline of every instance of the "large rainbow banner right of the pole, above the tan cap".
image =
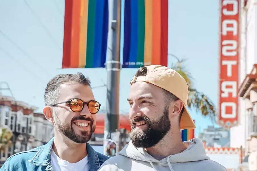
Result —
<instances>
[{"instance_id":1,"label":"large rainbow banner right of the pole, above the tan cap","mask_svg":"<svg viewBox=\"0 0 257 171\"><path fill-rule=\"evenodd\" d=\"M168 61L168 0L125 0L123 68Z\"/></svg>"}]
</instances>

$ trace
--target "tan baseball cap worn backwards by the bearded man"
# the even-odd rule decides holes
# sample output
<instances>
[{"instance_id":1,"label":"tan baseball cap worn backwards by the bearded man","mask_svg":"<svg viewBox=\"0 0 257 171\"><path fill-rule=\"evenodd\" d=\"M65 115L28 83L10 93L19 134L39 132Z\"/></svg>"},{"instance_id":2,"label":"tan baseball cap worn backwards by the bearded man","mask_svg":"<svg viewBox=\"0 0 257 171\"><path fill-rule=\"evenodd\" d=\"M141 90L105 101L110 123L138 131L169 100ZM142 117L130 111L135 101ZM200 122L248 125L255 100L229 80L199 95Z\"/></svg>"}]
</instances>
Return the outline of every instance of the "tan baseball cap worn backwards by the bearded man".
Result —
<instances>
[{"instance_id":1,"label":"tan baseball cap worn backwards by the bearded man","mask_svg":"<svg viewBox=\"0 0 257 171\"><path fill-rule=\"evenodd\" d=\"M146 66L146 76L134 76L130 85L137 81L144 81L160 88L163 88L183 101L184 112L180 121L180 129L195 129L193 119L186 109L188 99L188 86L186 80L175 70L161 65Z\"/></svg>"}]
</instances>

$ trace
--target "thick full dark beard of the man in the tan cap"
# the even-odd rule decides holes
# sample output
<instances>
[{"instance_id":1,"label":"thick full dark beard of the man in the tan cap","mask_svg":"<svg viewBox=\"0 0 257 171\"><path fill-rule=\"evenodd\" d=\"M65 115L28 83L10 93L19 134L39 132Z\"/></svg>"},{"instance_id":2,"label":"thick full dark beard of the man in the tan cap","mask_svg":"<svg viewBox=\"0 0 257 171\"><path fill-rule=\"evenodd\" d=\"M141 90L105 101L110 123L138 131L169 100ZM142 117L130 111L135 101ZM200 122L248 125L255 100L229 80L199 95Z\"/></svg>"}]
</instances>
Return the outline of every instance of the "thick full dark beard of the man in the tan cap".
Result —
<instances>
[{"instance_id":1,"label":"thick full dark beard of the man in the tan cap","mask_svg":"<svg viewBox=\"0 0 257 171\"><path fill-rule=\"evenodd\" d=\"M146 116L132 119L130 125L131 132L129 134L129 137L135 147L150 148L163 139L163 137L170 130L170 120L168 118L168 112L168 106L165 106L162 116L155 121L150 121L150 119ZM147 128L134 131L136 127L134 122L140 121L145 121L147 124Z\"/></svg>"}]
</instances>

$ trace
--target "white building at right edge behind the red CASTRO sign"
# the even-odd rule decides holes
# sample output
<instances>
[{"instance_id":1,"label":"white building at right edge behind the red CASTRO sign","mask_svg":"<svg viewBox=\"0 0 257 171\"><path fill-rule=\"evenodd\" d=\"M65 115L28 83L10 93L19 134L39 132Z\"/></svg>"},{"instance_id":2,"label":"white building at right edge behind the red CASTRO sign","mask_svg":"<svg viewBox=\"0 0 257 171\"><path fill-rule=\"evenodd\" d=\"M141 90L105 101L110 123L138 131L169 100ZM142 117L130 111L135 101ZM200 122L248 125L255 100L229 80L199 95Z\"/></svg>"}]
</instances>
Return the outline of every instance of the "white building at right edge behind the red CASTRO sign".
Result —
<instances>
[{"instance_id":1,"label":"white building at right edge behind the red CASTRO sign","mask_svg":"<svg viewBox=\"0 0 257 171\"><path fill-rule=\"evenodd\" d=\"M242 0L240 8L239 124L230 129L230 146L245 148L245 164L257 170L257 1ZM249 156L250 155L250 156ZM248 162L249 160L249 162ZM252 160L252 162L250 162Z\"/></svg>"}]
</instances>

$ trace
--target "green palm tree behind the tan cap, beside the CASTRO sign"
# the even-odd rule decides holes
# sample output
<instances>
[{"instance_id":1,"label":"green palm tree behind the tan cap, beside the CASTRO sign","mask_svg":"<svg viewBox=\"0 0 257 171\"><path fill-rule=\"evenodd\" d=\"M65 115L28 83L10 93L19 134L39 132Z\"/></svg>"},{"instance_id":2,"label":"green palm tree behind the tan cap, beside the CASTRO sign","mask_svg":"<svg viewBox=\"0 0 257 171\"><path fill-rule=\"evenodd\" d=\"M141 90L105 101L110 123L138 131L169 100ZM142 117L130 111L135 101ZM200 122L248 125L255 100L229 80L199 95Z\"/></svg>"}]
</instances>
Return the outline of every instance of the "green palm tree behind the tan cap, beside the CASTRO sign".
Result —
<instances>
[{"instance_id":1,"label":"green palm tree behind the tan cap, beside the CASTRO sign","mask_svg":"<svg viewBox=\"0 0 257 171\"><path fill-rule=\"evenodd\" d=\"M216 109L214 103L204 93L199 92L193 87L194 78L184 67L184 61L185 60L180 60L172 64L171 68L177 71L188 84L188 108L192 109L192 107L194 107L196 111L200 111L203 116L209 116L211 119L215 120Z\"/></svg>"}]
</instances>

